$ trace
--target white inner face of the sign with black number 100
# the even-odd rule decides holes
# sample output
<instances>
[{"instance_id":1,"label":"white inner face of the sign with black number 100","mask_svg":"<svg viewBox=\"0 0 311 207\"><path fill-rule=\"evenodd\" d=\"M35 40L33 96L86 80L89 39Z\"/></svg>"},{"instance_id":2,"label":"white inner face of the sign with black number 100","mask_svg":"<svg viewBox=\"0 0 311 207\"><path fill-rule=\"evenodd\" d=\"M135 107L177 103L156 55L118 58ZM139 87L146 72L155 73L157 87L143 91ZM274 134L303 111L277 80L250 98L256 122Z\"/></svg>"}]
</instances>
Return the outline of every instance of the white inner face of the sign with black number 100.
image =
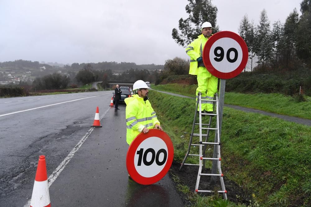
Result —
<instances>
[{"instance_id":1,"label":"white inner face of the sign with black number 100","mask_svg":"<svg viewBox=\"0 0 311 207\"><path fill-rule=\"evenodd\" d=\"M134 166L141 176L151 178L165 167L168 149L159 137L149 137L140 143L134 156Z\"/></svg>"}]
</instances>

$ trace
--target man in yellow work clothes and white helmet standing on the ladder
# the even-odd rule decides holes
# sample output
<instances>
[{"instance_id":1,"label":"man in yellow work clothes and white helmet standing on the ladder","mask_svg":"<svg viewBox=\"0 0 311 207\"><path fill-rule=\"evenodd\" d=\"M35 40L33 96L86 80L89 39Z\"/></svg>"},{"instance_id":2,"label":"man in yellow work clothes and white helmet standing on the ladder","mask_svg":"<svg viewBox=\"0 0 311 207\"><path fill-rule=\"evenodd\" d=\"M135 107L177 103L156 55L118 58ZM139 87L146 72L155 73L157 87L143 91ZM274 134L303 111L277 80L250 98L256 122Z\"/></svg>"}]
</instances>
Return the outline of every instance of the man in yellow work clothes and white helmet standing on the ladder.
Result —
<instances>
[{"instance_id":1,"label":"man in yellow work clothes and white helmet standing on the ladder","mask_svg":"<svg viewBox=\"0 0 311 207\"><path fill-rule=\"evenodd\" d=\"M202 59L204 45L212 35L211 23L204 22L201 26L201 31L202 34L186 48L186 53L190 56L189 74L197 75L198 87L196 96L198 92L201 92L202 100L213 100L214 94L217 92L218 78L208 72ZM213 102L204 101L202 103L202 110L205 110L205 113L212 114Z\"/></svg>"}]
</instances>

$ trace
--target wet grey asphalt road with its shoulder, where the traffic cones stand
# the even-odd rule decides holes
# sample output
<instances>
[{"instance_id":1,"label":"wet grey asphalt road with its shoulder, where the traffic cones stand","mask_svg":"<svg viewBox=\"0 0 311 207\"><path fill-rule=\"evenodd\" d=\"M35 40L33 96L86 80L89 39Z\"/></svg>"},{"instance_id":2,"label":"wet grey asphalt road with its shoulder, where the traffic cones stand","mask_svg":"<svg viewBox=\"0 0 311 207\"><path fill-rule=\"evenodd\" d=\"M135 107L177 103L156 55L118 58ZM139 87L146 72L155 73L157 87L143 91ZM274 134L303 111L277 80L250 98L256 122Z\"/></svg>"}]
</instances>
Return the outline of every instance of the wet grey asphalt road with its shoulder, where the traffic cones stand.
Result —
<instances>
[{"instance_id":1,"label":"wet grey asphalt road with its shoulder, where the traffic cones stand","mask_svg":"<svg viewBox=\"0 0 311 207\"><path fill-rule=\"evenodd\" d=\"M104 91L0 99L0 206L24 206L39 155L46 156L49 177L86 135L63 171L54 174L52 206L183 206L168 175L150 186L128 178L125 105L115 112L111 97ZM103 127L87 133L96 106ZM10 114L17 111L22 112Z\"/></svg>"}]
</instances>

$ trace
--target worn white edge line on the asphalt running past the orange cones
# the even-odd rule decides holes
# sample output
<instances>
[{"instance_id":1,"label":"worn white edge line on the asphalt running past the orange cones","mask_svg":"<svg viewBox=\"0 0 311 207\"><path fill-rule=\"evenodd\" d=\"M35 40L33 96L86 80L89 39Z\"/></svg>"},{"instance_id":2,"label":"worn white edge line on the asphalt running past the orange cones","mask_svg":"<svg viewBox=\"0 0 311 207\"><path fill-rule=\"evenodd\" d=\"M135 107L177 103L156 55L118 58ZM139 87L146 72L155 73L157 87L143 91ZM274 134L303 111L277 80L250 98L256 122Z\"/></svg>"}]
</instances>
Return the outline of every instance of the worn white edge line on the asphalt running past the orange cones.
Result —
<instances>
[{"instance_id":1,"label":"worn white edge line on the asphalt running past the orange cones","mask_svg":"<svg viewBox=\"0 0 311 207\"><path fill-rule=\"evenodd\" d=\"M107 111L110 108L108 108L105 113L100 117L100 120L106 115ZM73 155L78 151L78 149L81 147L81 145L86 141L86 139L90 136L90 134L93 132L95 127L91 127L89 131L86 132L84 137L78 142L78 144L72 149L71 152L67 155L67 157L61 162L61 164L58 165L58 167L53 171L53 173L49 176L48 178L48 184L49 187L52 185L52 183L56 180L58 175L63 171L63 169L66 167L66 165L69 163ZM30 206L31 199L28 200L28 202L24 205L24 207L29 207Z\"/></svg>"}]
</instances>

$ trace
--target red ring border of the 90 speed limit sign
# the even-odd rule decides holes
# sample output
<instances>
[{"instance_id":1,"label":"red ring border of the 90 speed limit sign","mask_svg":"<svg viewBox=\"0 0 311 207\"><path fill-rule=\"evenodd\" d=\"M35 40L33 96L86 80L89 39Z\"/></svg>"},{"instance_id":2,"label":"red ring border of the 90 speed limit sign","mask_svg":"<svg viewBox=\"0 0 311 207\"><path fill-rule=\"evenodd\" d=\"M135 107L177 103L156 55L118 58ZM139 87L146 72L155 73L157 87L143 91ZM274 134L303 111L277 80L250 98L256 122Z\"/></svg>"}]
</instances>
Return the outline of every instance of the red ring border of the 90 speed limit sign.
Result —
<instances>
[{"instance_id":1,"label":"red ring border of the 90 speed limit sign","mask_svg":"<svg viewBox=\"0 0 311 207\"><path fill-rule=\"evenodd\" d=\"M210 50L211 50L211 46L219 39L221 38L231 38L234 39L235 41L237 41L239 43L239 45L242 48L242 61L240 63L240 65L233 71L231 71L230 73L223 73L220 72L218 70L216 70L213 65L211 64L210 61ZM245 52L246 51L246 52ZM234 33L234 32L230 32L230 31L221 31L221 32L217 32L216 34L213 34L208 41L206 42L204 48L203 48L203 62L204 65L206 66L206 69L215 77L220 78L220 79L230 79L230 78L234 78L235 76L239 75L242 70L244 70L247 61L248 61L248 48L247 45L244 41L243 38L241 38L238 34Z\"/></svg>"}]
</instances>

